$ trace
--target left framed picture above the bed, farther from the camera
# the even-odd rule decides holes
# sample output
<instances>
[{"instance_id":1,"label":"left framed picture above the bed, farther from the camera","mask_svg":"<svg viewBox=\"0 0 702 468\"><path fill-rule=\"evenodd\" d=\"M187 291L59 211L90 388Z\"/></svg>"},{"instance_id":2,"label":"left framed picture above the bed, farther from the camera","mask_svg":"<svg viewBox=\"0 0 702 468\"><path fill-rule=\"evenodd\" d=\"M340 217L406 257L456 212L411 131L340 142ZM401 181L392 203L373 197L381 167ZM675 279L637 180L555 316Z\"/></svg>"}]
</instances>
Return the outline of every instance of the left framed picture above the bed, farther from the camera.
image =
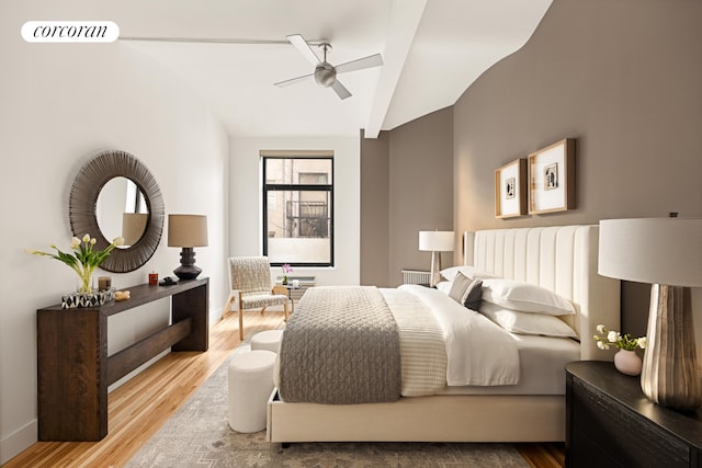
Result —
<instances>
[{"instance_id":1,"label":"left framed picture above the bed, farther from the camera","mask_svg":"<svg viewBox=\"0 0 702 468\"><path fill-rule=\"evenodd\" d=\"M495 171L495 217L526 214L526 159L516 159Z\"/></svg>"}]
</instances>

